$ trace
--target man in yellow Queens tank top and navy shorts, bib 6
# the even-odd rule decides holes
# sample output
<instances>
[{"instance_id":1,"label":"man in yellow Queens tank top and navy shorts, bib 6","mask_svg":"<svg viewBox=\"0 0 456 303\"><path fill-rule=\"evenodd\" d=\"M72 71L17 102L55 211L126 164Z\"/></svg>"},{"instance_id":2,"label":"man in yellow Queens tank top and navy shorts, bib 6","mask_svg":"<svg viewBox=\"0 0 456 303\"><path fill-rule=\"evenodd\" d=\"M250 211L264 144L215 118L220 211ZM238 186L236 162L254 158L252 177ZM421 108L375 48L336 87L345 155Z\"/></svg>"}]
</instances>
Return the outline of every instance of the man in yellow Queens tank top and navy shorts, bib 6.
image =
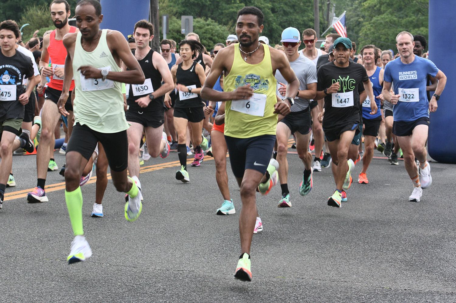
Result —
<instances>
[{"instance_id":1,"label":"man in yellow Queens tank top and navy shorts, bib 6","mask_svg":"<svg viewBox=\"0 0 456 303\"><path fill-rule=\"evenodd\" d=\"M260 44L263 13L254 6L238 11L236 34L239 44L221 49L212 62L211 71L201 90L201 97L225 104L225 140L233 174L241 191L242 211L239 216L241 256L234 277L251 281L250 245L258 212L255 202L257 187L269 192L275 166L269 164L275 142L277 114L290 113L290 105L299 88L299 80L284 54ZM299 39L299 37L297 37ZM275 71L289 83L283 101L275 97ZM224 73L224 91L212 89ZM278 167L278 166L277 166ZM265 176L266 174L266 176ZM263 182L262 182L263 181Z\"/></svg>"}]
</instances>

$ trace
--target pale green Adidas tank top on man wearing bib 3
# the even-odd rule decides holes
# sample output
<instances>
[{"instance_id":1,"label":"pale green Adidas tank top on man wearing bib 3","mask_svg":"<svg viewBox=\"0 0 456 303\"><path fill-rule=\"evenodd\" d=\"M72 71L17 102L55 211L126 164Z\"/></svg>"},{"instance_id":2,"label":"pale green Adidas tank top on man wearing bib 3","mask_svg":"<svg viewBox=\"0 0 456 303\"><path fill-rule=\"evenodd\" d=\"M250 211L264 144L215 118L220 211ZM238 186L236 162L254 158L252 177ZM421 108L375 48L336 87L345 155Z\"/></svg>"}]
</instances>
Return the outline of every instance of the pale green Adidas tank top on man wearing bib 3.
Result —
<instances>
[{"instance_id":1,"label":"pale green Adidas tank top on man wearing bib 3","mask_svg":"<svg viewBox=\"0 0 456 303\"><path fill-rule=\"evenodd\" d=\"M78 68L89 65L112 72L121 69L114 60L106 41L108 30L102 30L97 47L84 51L81 46L81 32L78 32L73 56L74 76L74 121L101 133L117 133L128 128L124 113L122 83L109 79L84 79Z\"/></svg>"}]
</instances>

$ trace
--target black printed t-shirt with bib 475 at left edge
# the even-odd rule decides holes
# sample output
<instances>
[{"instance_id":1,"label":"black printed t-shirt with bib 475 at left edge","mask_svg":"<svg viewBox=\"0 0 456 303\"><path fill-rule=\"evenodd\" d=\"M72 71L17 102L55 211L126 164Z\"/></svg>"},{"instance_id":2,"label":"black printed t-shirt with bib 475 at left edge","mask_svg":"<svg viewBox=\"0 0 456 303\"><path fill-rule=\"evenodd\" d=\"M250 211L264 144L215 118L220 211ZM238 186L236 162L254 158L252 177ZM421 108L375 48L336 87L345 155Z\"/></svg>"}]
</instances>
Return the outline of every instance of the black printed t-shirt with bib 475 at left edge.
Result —
<instances>
[{"instance_id":1,"label":"black printed t-shirt with bib 475 at left edge","mask_svg":"<svg viewBox=\"0 0 456 303\"><path fill-rule=\"evenodd\" d=\"M19 102L23 94L24 78L33 77L31 59L16 50L11 57L0 51L0 121L24 118L24 105Z\"/></svg>"}]
</instances>

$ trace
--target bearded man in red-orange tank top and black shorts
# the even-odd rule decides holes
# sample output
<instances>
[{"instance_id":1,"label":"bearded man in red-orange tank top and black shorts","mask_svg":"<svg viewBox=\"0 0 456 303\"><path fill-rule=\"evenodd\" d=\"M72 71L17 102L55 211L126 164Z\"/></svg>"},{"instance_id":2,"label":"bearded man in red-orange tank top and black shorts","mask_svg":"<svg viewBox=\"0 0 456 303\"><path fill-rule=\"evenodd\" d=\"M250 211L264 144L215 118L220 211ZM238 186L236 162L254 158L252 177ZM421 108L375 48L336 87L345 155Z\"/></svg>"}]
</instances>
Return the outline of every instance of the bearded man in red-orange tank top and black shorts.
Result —
<instances>
[{"instance_id":1,"label":"bearded man in red-orange tank top and black shorts","mask_svg":"<svg viewBox=\"0 0 456 303\"><path fill-rule=\"evenodd\" d=\"M43 38L43 51L40 60L41 82L36 88L37 92L43 92L43 87L47 82L46 77L50 77L51 81L47 83L46 91L44 92L46 101L41 110L40 148L36 151L36 172L38 179L35 189L27 194L27 201L29 203L48 201L44 190L47 172L58 169L53 156L55 143L54 130L61 115L56 104L62 94L63 67L65 57L67 56L62 39L67 33L74 33L78 30L76 27L68 24L70 5L67 1L54 0L50 7L52 21L56 29ZM48 66L49 61L51 61L51 66ZM68 117L70 121L72 121L73 115L73 106L71 103L71 91L73 91L73 88L74 81L71 81L69 87L70 95L65 104L65 109L70 113ZM68 127L68 133L71 134L73 125L70 123Z\"/></svg>"}]
</instances>

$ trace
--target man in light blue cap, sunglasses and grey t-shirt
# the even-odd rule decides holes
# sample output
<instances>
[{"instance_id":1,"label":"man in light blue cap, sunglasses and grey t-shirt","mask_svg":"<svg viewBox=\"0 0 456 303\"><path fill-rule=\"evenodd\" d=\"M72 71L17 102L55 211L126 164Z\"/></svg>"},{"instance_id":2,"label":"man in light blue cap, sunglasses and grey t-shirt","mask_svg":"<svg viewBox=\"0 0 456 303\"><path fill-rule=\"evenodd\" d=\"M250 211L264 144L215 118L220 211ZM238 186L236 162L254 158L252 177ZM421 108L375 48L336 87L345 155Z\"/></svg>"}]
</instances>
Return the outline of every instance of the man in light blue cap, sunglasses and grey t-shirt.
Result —
<instances>
[{"instance_id":1,"label":"man in light blue cap, sunglasses and grey t-shirt","mask_svg":"<svg viewBox=\"0 0 456 303\"><path fill-rule=\"evenodd\" d=\"M296 138L296 151L304 163L304 174L299 185L299 194L307 195L312 189L312 154L308 152L311 137L311 99L316 96L316 66L306 56L298 52L301 41L299 31L294 27L282 31L282 45L285 47L285 55L290 62L291 69L298 77L300 86L295 97L295 103L291 106L291 113L277 123L277 162L279 162L279 180L282 189L282 199L278 207L291 207L290 190L288 190L288 139L293 134ZM281 86L279 92L285 96L287 84L280 71L275 72L275 78ZM281 118L281 117L280 117Z\"/></svg>"}]
</instances>

